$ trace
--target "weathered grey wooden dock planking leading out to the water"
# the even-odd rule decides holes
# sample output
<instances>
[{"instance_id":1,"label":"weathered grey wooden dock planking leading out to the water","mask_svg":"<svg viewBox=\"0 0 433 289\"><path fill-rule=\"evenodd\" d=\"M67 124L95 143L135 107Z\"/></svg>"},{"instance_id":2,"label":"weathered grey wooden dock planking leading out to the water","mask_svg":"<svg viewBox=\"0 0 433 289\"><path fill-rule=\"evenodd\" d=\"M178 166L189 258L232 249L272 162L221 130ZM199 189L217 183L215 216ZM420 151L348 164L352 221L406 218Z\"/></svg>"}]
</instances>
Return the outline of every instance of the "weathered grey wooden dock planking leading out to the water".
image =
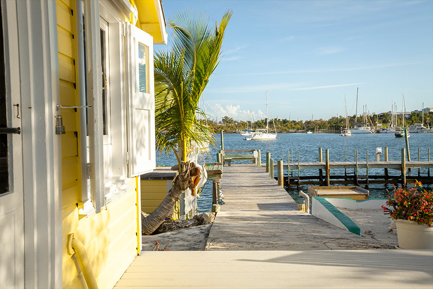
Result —
<instances>
[{"instance_id":1,"label":"weathered grey wooden dock planking leading out to the water","mask_svg":"<svg viewBox=\"0 0 433 289\"><path fill-rule=\"evenodd\" d=\"M206 245L215 250L389 249L297 210L297 204L269 173L254 164L224 168L225 204Z\"/></svg>"}]
</instances>

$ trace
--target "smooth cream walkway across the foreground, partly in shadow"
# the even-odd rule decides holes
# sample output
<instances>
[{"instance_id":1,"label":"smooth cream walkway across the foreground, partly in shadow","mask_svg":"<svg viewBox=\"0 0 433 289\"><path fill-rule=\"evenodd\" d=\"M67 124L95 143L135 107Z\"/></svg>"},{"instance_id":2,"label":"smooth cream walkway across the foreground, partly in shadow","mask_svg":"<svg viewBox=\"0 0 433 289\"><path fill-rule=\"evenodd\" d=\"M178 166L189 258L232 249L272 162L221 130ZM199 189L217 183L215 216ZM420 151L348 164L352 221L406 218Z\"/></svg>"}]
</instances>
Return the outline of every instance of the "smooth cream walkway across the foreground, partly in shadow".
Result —
<instances>
[{"instance_id":1,"label":"smooth cream walkway across the foreground, partly in shadow","mask_svg":"<svg viewBox=\"0 0 433 289\"><path fill-rule=\"evenodd\" d=\"M432 289L424 250L142 252L115 289Z\"/></svg>"}]
</instances>

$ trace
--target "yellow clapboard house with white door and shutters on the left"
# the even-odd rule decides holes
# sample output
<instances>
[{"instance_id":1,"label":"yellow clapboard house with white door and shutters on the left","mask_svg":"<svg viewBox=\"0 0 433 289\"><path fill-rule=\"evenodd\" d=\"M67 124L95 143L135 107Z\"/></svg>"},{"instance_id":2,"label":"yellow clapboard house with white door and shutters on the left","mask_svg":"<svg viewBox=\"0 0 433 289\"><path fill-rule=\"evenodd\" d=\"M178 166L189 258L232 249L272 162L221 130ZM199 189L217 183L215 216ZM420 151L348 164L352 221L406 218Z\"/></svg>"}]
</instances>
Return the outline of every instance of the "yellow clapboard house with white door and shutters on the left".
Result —
<instances>
[{"instance_id":1,"label":"yellow clapboard house with white door and shutters on the left","mask_svg":"<svg viewBox=\"0 0 433 289\"><path fill-rule=\"evenodd\" d=\"M112 288L141 249L162 2L0 5L0 288Z\"/></svg>"}]
</instances>

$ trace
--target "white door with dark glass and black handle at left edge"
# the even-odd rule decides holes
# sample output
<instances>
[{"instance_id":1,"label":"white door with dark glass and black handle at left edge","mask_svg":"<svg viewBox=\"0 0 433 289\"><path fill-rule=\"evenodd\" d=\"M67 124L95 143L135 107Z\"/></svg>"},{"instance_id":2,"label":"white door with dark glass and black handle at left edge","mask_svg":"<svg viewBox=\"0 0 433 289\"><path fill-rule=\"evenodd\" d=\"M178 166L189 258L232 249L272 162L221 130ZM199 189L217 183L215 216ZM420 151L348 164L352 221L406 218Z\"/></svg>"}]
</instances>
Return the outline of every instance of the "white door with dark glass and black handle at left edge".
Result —
<instances>
[{"instance_id":1,"label":"white door with dark glass and black handle at left edge","mask_svg":"<svg viewBox=\"0 0 433 289\"><path fill-rule=\"evenodd\" d=\"M15 1L0 4L0 288L24 288L17 9Z\"/></svg>"}]
</instances>

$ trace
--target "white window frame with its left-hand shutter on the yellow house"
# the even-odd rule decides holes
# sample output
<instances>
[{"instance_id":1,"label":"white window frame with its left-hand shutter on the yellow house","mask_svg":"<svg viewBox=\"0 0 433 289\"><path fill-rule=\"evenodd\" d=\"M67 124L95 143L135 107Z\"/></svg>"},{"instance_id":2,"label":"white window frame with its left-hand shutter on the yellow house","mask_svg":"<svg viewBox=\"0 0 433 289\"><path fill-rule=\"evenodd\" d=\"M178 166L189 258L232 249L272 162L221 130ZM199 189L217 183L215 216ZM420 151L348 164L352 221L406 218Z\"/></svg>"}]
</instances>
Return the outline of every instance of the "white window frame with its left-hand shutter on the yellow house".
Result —
<instances>
[{"instance_id":1,"label":"white window frame with its left-hand shutter on the yellow house","mask_svg":"<svg viewBox=\"0 0 433 289\"><path fill-rule=\"evenodd\" d=\"M99 213L110 201L129 190L126 131L125 16L112 1L84 1L87 53L87 95L93 108L88 110L90 190L82 192L83 207L79 214ZM95 20L97 19L97 20ZM108 135L103 135L103 74L101 63L101 28L106 31ZM126 46L126 48L125 48ZM153 48L153 43L152 47ZM152 49L149 49L152 51ZM150 58L150 56L149 56ZM153 63L153 53L152 53ZM96 69L93 69L96 68ZM111 69L110 69L111 68ZM153 72L153 65L152 65ZM110 81L113 79L113 81ZM153 91L153 83L152 83ZM108 121L109 120L109 121ZM82 129L85 125L82 125ZM115 152L114 154L112 152ZM82 152L84 155L86 152ZM155 152L154 152L155 153ZM87 168L83 168L87 170ZM83 178L83 181L85 179Z\"/></svg>"}]
</instances>

